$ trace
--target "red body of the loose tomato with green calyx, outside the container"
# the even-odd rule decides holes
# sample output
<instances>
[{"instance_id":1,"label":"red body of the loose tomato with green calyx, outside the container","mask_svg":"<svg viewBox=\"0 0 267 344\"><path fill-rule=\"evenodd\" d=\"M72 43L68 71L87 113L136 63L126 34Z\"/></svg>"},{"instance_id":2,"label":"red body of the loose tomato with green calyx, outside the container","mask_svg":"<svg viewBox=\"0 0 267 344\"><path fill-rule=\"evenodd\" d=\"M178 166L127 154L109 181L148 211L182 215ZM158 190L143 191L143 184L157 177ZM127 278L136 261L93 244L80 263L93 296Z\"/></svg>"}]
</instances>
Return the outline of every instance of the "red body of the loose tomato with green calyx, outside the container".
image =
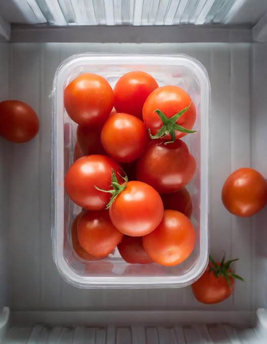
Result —
<instances>
[{"instance_id":1,"label":"red body of the loose tomato with green calyx, outside the container","mask_svg":"<svg viewBox=\"0 0 267 344\"><path fill-rule=\"evenodd\" d=\"M213 266L211 263L209 265ZM231 269L227 271L232 272ZM232 288L228 286L224 276L216 277L208 266L204 274L191 285L194 297L197 301L205 304L221 302L227 299L233 292L235 279L229 276L229 280Z\"/></svg>"}]
</instances>

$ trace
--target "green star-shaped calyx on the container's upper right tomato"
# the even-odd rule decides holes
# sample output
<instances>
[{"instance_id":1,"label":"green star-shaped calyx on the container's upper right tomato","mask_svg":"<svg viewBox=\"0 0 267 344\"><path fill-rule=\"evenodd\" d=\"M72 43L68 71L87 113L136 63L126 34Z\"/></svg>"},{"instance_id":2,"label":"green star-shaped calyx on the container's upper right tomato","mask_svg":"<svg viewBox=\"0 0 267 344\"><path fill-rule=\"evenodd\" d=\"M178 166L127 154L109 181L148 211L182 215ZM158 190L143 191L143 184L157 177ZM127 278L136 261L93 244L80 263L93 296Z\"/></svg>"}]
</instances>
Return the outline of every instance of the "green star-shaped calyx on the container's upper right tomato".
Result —
<instances>
[{"instance_id":1,"label":"green star-shaped calyx on the container's upper right tomato","mask_svg":"<svg viewBox=\"0 0 267 344\"><path fill-rule=\"evenodd\" d=\"M187 106L186 108L184 108L180 112L176 113L171 118L168 118L159 109L155 110L154 112L156 112L158 114L159 118L162 121L162 127L159 129L159 131L155 135L152 135L151 131L149 129L148 131L149 131L150 138L151 139L159 139L161 137L164 138L164 136L170 134L171 141L164 142L164 144L168 144L168 143L172 143L175 141L175 138L176 138L175 137L175 131L179 131L179 132L187 133L187 134L195 133L196 130L186 129L182 126L179 126L179 124L176 123L177 119L179 119L190 108L190 106L191 106L191 103L189 104L189 106Z\"/></svg>"}]
</instances>

